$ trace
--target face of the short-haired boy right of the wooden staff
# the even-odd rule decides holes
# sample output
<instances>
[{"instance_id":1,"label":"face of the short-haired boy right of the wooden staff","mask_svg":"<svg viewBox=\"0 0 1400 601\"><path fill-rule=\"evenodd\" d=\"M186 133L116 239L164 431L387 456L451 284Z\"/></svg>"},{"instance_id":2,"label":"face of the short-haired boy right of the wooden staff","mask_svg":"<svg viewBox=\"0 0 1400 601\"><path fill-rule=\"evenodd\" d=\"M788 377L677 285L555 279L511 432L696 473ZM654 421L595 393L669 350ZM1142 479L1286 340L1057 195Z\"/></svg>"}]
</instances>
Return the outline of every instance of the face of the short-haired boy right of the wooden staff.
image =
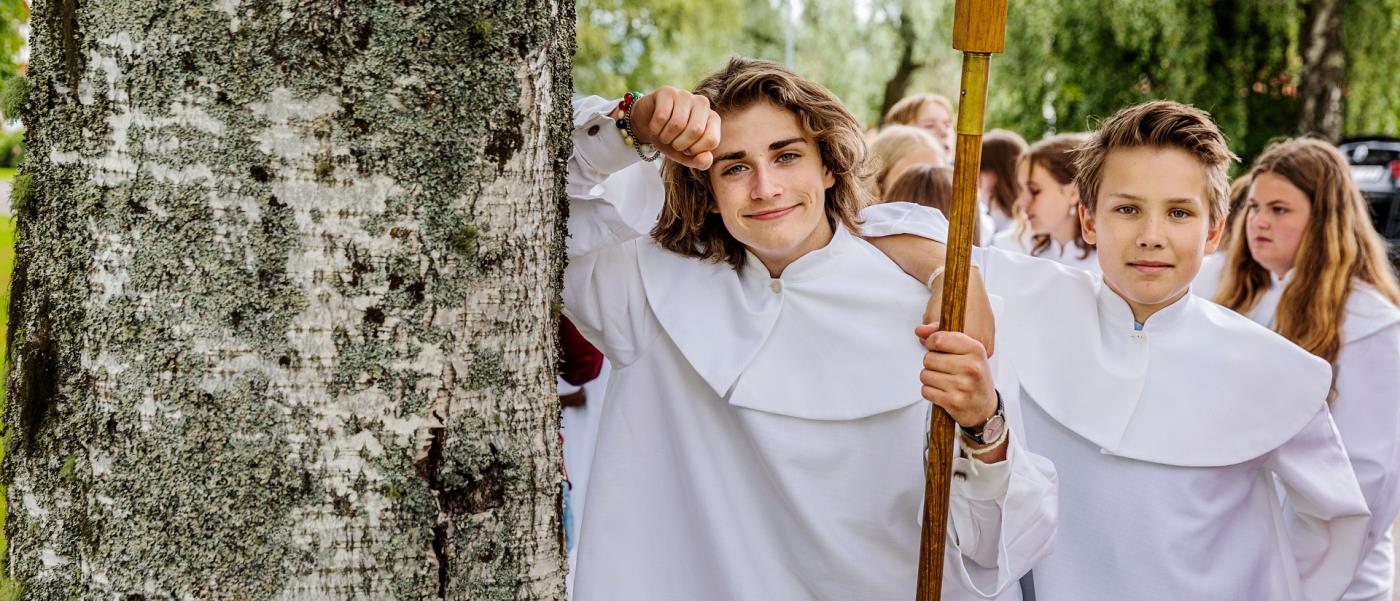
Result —
<instances>
[{"instance_id":1,"label":"face of the short-haired boy right of the wooden staff","mask_svg":"<svg viewBox=\"0 0 1400 601\"><path fill-rule=\"evenodd\" d=\"M1211 224L1205 165L1173 147L1109 151L1093 214L1079 217L1103 282L1140 322L1186 294L1224 228Z\"/></svg>"}]
</instances>

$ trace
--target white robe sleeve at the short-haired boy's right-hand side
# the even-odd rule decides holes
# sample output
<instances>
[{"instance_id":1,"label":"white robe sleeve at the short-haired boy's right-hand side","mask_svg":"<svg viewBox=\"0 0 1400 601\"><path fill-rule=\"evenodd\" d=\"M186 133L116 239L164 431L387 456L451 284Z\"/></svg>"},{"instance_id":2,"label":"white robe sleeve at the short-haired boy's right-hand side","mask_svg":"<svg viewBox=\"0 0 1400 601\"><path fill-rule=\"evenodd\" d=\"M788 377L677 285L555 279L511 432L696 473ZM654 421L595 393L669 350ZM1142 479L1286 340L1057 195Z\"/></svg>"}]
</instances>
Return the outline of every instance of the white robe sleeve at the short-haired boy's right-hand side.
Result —
<instances>
[{"instance_id":1,"label":"white robe sleeve at the short-haired boy's right-hand side","mask_svg":"<svg viewBox=\"0 0 1400 601\"><path fill-rule=\"evenodd\" d=\"M1327 408L1274 450L1266 468L1285 496L1282 521L1302 598L1337 600L1361 563L1371 513Z\"/></svg>"}]
</instances>

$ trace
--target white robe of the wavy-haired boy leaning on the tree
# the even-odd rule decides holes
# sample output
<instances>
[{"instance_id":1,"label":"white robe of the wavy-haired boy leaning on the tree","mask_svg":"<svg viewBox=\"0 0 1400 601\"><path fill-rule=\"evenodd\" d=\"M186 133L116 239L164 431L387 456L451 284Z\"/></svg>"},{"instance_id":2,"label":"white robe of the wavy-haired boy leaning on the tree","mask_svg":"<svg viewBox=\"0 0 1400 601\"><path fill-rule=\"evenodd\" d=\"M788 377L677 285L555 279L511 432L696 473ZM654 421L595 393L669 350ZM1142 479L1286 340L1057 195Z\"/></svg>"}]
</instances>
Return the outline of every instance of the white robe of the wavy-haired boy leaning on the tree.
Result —
<instances>
[{"instance_id":1,"label":"white robe of the wavy-haired boy leaning on the tree","mask_svg":"<svg viewBox=\"0 0 1400 601\"><path fill-rule=\"evenodd\" d=\"M564 311L613 366L574 598L913 598L928 291L844 228L778 279L662 249L610 105L575 101L567 181ZM1049 549L1054 471L1012 427L1007 461L955 460L945 600L1019 598Z\"/></svg>"}]
</instances>

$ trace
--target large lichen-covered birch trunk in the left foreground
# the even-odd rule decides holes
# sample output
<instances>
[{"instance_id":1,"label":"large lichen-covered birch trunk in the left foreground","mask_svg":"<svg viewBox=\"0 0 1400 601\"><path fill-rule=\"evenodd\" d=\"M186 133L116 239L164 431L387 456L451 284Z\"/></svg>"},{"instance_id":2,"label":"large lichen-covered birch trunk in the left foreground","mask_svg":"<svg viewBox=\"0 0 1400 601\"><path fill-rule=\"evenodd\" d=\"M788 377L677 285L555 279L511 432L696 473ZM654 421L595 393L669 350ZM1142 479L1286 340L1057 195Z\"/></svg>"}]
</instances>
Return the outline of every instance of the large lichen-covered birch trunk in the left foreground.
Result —
<instances>
[{"instance_id":1,"label":"large lichen-covered birch trunk in the left foreground","mask_svg":"<svg viewBox=\"0 0 1400 601\"><path fill-rule=\"evenodd\" d=\"M38 0L27 600L563 597L573 3Z\"/></svg>"}]
</instances>

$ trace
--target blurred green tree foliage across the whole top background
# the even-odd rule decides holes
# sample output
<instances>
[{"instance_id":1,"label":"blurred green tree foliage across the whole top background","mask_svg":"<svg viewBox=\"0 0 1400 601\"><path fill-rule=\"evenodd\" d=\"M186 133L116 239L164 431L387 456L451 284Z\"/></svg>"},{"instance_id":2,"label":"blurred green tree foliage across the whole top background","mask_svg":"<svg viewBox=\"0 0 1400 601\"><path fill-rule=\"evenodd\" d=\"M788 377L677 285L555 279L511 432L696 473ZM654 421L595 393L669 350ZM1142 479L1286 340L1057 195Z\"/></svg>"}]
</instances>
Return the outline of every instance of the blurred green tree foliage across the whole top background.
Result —
<instances>
[{"instance_id":1,"label":"blurred green tree foliage across the whole top background","mask_svg":"<svg viewBox=\"0 0 1400 601\"><path fill-rule=\"evenodd\" d=\"M797 1L797 0L794 0ZM1308 0L1014 1L993 60L988 127L1029 140L1092 127L1124 105L1170 98L1219 120L1257 156L1299 120L1299 28ZM792 66L867 123L879 116L914 22L909 91L958 92L952 0L801 0ZM580 92L693 85L729 55L784 60L788 0L580 0ZM1347 4L1348 133L1400 134L1400 0Z\"/></svg>"}]
</instances>

